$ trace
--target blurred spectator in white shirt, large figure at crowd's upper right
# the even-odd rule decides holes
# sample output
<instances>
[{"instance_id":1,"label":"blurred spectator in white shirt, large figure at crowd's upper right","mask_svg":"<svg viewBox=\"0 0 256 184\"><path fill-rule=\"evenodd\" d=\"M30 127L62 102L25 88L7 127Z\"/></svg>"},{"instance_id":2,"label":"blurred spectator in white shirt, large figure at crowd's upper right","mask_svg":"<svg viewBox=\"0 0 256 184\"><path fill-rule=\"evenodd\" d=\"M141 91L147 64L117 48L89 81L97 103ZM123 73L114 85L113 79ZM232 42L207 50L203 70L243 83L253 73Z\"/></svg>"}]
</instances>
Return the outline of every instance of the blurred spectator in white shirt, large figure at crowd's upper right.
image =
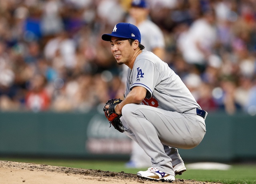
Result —
<instances>
[{"instance_id":1,"label":"blurred spectator in white shirt, large figure at crowd's upper right","mask_svg":"<svg viewBox=\"0 0 256 184\"><path fill-rule=\"evenodd\" d=\"M177 40L185 61L195 67L199 73L206 68L208 57L213 53L217 40L214 10L203 12L202 18L192 23L187 32Z\"/></svg>"}]
</instances>

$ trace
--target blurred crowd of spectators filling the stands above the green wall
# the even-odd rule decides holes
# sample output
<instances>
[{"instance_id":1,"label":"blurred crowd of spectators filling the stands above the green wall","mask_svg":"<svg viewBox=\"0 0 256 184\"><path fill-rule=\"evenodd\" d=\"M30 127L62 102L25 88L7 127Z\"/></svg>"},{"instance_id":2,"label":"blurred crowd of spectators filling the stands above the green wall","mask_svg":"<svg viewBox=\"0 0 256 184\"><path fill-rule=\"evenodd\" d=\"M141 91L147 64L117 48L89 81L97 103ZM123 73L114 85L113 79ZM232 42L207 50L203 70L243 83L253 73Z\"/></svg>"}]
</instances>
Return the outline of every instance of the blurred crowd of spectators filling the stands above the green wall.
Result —
<instances>
[{"instance_id":1,"label":"blurred crowd of spectators filling the stands above the green wall","mask_svg":"<svg viewBox=\"0 0 256 184\"><path fill-rule=\"evenodd\" d=\"M123 98L101 39L130 0L0 0L0 111L102 111ZM163 59L206 111L256 115L256 1L148 0ZM150 30L149 30L150 31Z\"/></svg>"}]
</instances>

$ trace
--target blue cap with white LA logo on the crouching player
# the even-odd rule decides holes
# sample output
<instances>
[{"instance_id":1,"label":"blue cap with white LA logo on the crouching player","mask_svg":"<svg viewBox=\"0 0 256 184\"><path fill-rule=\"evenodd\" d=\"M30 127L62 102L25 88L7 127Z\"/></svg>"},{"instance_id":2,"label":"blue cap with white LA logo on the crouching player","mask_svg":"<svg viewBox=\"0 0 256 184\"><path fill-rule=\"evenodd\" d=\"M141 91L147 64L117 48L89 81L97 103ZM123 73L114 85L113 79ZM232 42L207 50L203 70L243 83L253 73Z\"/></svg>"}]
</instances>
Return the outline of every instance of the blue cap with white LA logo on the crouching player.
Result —
<instances>
[{"instance_id":1,"label":"blue cap with white LA logo on the crouching player","mask_svg":"<svg viewBox=\"0 0 256 184\"><path fill-rule=\"evenodd\" d=\"M114 26L113 31L111 34L103 34L102 40L110 41L111 37L118 37L118 38L131 38L133 40L141 41L140 31L139 29L130 23L118 23Z\"/></svg>"}]
</instances>

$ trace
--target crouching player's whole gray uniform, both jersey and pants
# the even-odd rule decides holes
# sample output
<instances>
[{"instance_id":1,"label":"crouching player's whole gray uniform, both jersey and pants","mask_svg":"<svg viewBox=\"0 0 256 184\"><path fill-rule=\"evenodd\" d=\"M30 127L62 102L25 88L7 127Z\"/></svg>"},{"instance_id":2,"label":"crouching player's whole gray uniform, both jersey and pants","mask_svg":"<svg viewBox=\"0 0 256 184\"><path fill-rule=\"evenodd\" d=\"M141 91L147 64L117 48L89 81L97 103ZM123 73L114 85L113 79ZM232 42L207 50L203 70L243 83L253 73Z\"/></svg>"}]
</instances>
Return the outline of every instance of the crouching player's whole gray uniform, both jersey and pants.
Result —
<instances>
[{"instance_id":1,"label":"crouching player's whole gray uniform, both jersey and pants","mask_svg":"<svg viewBox=\"0 0 256 184\"><path fill-rule=\"evenodd\" d=\"M147 89L146 98L122 108L125 133L150 156L152 167L174 175L172 166L183 162L177 148L193 148L205 135L204 118L196 115L200 106L180 77L150 51L143 50L128 69L125 96L136 86Z\"/></svg>"}]
</instances>

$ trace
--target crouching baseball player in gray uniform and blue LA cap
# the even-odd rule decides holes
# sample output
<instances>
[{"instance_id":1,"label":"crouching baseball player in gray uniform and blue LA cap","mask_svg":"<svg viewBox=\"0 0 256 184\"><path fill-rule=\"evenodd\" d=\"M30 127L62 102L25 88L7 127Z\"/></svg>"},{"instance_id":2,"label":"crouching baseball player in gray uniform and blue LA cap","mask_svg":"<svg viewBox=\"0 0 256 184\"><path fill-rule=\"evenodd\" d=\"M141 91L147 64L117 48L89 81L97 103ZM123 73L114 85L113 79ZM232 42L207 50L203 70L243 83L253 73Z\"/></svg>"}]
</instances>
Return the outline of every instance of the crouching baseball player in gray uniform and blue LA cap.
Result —
<instances>
[{"instance_id":1,"label":"crouching baseball player in gray uniform and blue LA cap","mask_svg":"<svg viewBox=\"0 0 256 184\"><path fill-rule=\"evenodd\" d=\"M202 141L207 112L167 63L144 50L136 26L116 24L102 39L110 42L117 63L129 67L125 98L108 101L105 115L150 156L152 167L137 176L172 182L186 171L177 148L194 148Z\"/></svg>"}]
</instances>

